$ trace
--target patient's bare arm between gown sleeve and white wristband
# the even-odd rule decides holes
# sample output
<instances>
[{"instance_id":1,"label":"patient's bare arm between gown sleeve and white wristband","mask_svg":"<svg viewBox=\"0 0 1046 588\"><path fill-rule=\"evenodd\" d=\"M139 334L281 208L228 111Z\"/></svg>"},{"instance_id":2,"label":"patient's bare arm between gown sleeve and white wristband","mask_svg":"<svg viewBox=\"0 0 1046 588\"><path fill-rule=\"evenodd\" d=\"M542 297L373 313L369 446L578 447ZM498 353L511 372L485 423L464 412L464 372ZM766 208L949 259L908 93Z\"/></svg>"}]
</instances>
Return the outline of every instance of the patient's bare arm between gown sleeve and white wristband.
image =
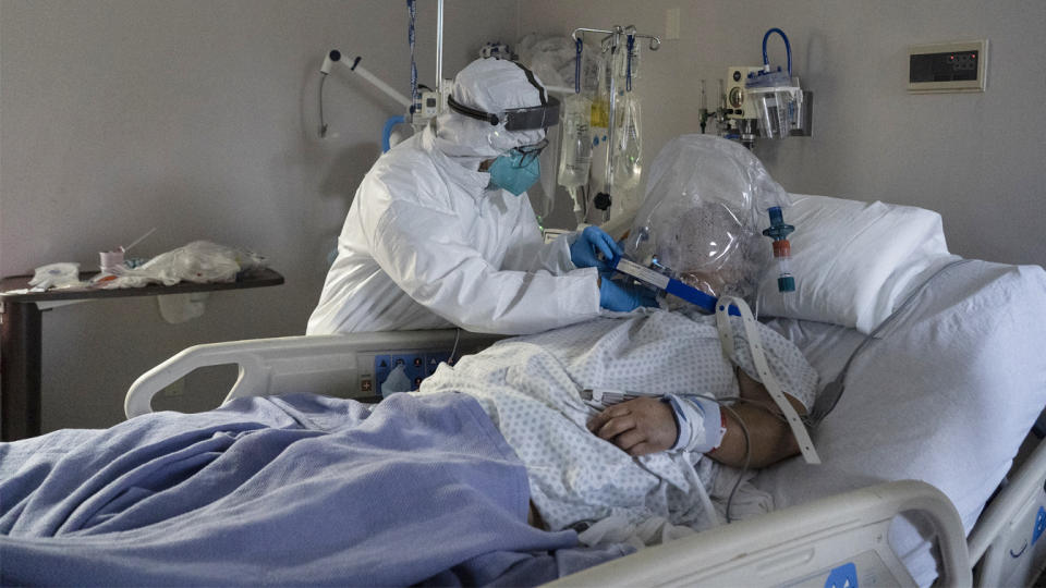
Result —
<instances>
[{"instance_id":1,"label":"patient's bare arm between gown sleeve and white wristband","mask_svg":"<svg viewBox=\"0 0 1046 588\"><path fill-rule=\"evenodd\" d=\"M749 430L749 440L752 444L752 455L749 467L766 467L787 457L799 454L799 444L788 424L781 417L781 411L774 403L769 392L762 383L753 380L743 370L738 369L738 383L741 387L741 397L746 402L738 402L729 409L723 408L722 415L727 420L727 434L716 450L707 453L713 460L733 467L744 465L745 441L740 418ZM798 400L789 396L788 401L800 415L806 414L806 408Z\"/></svg>"}]
</instances>

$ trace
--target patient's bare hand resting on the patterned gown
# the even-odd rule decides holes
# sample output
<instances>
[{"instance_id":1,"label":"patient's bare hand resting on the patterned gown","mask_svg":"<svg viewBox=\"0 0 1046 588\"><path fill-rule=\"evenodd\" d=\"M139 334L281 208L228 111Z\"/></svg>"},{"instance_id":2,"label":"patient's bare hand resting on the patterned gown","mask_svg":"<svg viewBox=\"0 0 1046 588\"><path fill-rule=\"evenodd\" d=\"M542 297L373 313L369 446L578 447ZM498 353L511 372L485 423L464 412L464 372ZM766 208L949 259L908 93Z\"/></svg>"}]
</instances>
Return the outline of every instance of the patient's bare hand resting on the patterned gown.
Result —
<instances>
[{"instance_id":1,"label":"patient's bare hand resting on the patterned gown","mask_svg":"<svg viewBox=\"0 0 1046 588\"><path fill-rule=\"evenodd\" d=\"M636 457L671 448L679 436L672 407L650 397L615 404L589 420L588 430Z\"/></svg>"}]
</instances>

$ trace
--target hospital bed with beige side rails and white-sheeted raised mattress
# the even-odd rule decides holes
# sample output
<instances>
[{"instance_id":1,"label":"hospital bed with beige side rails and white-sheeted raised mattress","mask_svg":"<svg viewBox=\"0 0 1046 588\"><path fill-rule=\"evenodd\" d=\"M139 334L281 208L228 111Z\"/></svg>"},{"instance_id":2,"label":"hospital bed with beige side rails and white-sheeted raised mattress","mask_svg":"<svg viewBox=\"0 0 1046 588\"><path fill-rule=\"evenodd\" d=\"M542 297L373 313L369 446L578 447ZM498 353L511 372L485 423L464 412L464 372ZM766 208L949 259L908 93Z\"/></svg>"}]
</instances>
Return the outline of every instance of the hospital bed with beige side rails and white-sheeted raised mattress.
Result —
<instances>
[{"instance_id":1,"label":"hospital bed with beige side rails and white-sheeted raised mattress","mask_svg":"<svg viewBox=\"0 0 1046 588\"><path fill-rule=\"evenodd\" d=\"M1036 357L1046 273L954 256L912 273L917 287L898 293L909 303L872 340L828 322L768 322L823 383L846 370L841 399L813 433L824 464L794 458L755 480L779 510L555 584L1031 585L1046 565L1046 444L1030 432L1046 405L1046 364ZM240 369L229 399L361 397L373 391L363 382L376 358L469 353L498 339L447 330L199 345L143 375L125 407L148 412L173 381L226 364Z\"/></svg>"}]
</instances>

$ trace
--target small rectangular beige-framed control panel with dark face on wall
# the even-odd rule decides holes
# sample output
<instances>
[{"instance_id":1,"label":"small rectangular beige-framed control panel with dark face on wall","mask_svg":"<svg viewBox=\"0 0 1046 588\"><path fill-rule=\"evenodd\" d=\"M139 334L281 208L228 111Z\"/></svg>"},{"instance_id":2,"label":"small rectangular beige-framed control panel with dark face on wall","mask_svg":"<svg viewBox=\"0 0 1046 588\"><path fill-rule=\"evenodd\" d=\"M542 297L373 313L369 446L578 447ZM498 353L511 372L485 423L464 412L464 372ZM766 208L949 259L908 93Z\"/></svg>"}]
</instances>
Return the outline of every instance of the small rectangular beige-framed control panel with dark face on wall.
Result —
<instances>
[{"instance_id":1,"label":"small rectangular beige-framed control panel with dark face on wall","mask_svg":"<svg viewBox=\"0 0 1046 588\"><path fill-rule=\"evenodd\" d=\"M916 45L908 49L908 91L984 91L988 40Z\"/></svg>"}]
</instances>

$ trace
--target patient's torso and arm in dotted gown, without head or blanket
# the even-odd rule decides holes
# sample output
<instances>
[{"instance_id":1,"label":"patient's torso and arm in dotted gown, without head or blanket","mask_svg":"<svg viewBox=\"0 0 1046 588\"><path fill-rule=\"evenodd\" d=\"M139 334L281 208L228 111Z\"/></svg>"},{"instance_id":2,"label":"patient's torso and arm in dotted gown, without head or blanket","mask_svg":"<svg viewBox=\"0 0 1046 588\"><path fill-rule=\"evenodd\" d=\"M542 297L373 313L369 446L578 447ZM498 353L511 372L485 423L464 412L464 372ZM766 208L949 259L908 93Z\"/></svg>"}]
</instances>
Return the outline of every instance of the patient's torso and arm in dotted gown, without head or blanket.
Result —
<instances>
[{"instance_id":1,"label":"patient's torso and arm in dotted gown, without head or blanket","mask_svg":"<svg viewBox=\"0 0 1046 588\"><path fill-rule=\"evenodd\" d=\"M740 319L734 320L739 326ZM741 475L738 468L746 458L751 468L795 453L776 406L746 375L756 370L743 331L735 331L728 359L710 316L660 310L597 319L502 341L453 367L440 366L417 394L461 392L479 402L526 465L531 500L547 528L575 528L586 544L659 543L723 522ZM765 328L761 334L783 390L798 406L808 408L816 372L787 340ZM582 400L583 389L643 392L657 399L600 411ZM717 414L711 427L692 419L691 437L703 451L718 446L711 460L701 448L669 449L677 444L679 428L670 404L661 399L676 395L686 402L697 394L755 401L723 409L726 420ZM641 415L655 422L636 427ZM751 448L745 446L739 418L745 420ZM706 438L711 440L705 443ZM771 507L768 495L740 481L731 518Z\"/></svg>"}]
</instances>

